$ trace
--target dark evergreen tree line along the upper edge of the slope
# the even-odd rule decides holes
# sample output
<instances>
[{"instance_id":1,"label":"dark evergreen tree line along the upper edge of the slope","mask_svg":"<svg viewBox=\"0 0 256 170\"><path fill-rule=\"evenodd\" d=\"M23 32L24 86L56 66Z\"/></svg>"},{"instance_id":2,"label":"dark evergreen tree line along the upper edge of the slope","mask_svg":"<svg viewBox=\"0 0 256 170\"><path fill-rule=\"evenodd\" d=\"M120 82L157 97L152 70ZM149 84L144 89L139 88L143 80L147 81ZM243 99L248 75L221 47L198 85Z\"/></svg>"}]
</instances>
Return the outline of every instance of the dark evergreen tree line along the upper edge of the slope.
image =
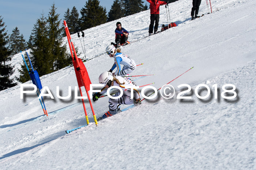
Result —
<instances>
[{"instance_id":1,"label":"dark evergreen tree line along the upper edge of the slope","mask_svg":"<svg viewBox=\"0 0 256 170\"><path fill-rule=\"evenodd\" d=\"M114 0L107 15L106 8L99 5L99 0L88 0L80 10L80 17L76 7L73 7L71 11L67 9L64 20L68 23L69 32L73 34L147 10L147 5L143 3L142 0ZM55 4L52 4L48 16L41 14L27 42L23 35L20 35L18 27L8 35L3 18L0 16L0 91L15 86L14 79L21 83L30 80L24 62L19 69L20 75L14 79L10 79L14 72L13 66L7 64L14 54L19 53L20 50L24 51L25 48L30 49L31 63L40 76L60 70L72 63L71 55L67 53L66 45L63 45L62 37L65 36L65 32L56 9Z\"/></svg>"}]
</instances>

